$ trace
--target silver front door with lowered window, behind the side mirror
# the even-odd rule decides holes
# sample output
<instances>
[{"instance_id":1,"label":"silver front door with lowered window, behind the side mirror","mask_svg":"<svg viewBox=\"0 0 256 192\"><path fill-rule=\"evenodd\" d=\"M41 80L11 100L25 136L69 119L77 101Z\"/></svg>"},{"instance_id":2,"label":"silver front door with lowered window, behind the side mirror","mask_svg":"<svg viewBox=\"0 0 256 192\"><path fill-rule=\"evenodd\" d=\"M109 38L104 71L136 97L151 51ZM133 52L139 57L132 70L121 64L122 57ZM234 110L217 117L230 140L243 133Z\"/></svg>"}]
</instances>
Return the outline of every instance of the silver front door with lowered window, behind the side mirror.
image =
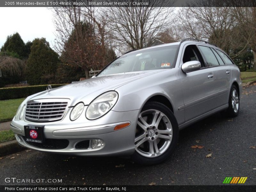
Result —
<instances>
[{"instance_id":1,"label":"silver front door with lowered window, behind the side mirror","mask_svg":"<svg viewBox=\"0 0 256 192\"><path fill-rule=\"evenodd\" d=\"M213 68L207 66L207 62L202 57L197 46L193 44L185 48L181 62L185 63L191 60L200 61L201 69L184 73L180 66L180 78L184 94L185 122L215 108Z\"/></svg>"}]
</instances>

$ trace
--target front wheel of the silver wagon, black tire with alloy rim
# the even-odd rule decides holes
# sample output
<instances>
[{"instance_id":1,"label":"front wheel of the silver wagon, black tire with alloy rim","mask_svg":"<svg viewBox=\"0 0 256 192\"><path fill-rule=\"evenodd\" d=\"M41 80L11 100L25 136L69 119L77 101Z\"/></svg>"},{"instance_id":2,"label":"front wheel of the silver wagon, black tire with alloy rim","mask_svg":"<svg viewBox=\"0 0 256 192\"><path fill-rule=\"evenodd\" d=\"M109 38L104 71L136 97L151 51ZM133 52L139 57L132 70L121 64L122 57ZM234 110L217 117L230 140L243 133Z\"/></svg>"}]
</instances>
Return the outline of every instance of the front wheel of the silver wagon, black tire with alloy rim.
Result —
<instances>
[{"instance_id":1,"label":"front wheel of the silver wagon, black tire with alloy rim","mask_svg":"<svg viewBox=\"0 0 256 192\"><path fill-rule=\"evenodd\" d=\"M172 111L162 103L148 102L137 120L131 157L139 164L159 164L172 154L178 139L178 123Z\"/></svg>"}]
</instances>

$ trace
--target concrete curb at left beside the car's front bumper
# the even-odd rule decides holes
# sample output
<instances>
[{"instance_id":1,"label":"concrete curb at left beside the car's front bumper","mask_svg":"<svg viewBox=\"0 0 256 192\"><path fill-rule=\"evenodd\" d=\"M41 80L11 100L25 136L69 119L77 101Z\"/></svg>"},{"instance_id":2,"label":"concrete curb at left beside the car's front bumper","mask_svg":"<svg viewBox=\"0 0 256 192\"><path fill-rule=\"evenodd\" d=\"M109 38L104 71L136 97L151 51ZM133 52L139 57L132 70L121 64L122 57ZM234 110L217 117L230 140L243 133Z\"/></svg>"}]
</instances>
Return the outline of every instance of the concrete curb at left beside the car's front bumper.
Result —
<instances>
[{"instance_id":1,"label":"concrete curb at left beside the car's front bumper","mask_svg":"<svg viewBox=\"0 0 256 192\"><path fill-rule=\"evenodd\" d=\"M26 148L21 147L16 140L7 141L4 143L0 143L0 156L17 153L25 149Z\"/></svg>"}]
</instances>

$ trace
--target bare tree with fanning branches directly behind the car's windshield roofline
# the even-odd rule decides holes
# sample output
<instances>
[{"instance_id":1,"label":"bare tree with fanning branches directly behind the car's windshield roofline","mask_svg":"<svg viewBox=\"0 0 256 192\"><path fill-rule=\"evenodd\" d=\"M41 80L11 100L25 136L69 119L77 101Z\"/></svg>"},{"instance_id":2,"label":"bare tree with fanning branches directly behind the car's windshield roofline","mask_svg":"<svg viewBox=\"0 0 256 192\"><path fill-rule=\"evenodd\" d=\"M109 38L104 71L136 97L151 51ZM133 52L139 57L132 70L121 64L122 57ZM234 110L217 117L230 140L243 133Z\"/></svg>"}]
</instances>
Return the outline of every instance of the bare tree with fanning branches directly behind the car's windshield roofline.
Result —
<instances>
[{"instance_id":1,"label":"bare tree with fanning branches directly behind the car's windshield roofline","mask_svg":"<svg viewBox=\"0 0 256 192\"><path fill-rule=\"evenodd\" d=\"M171 26L172 7L110 7L109 19L112 38L119 47L141 49L150 46L160 32Z\"/></svg>"}]
</instances>

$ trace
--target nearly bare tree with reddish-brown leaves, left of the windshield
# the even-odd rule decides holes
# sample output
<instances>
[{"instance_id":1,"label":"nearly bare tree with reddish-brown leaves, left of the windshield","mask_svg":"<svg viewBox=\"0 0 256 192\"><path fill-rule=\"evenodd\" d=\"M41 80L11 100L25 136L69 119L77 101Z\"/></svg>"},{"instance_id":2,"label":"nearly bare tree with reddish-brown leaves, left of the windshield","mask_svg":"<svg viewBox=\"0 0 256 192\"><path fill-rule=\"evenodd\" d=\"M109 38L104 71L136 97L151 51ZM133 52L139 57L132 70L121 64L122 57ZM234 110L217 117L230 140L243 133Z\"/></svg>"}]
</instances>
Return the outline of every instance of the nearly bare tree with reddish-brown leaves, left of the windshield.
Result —
<instances>
[{"instance_id":1,"label":"nearly bare tree with reddish-brown leaves, left of the windshield","mask_svg":"<svg viewBox=\"0 0 256 192\"><path fill-rule=\"evenodd\" d=\"M62 59L83 68L86 78L89 78L91 68L101 69L108 62L108 20L106 12L99 9L73 5L53 8L56 27L54 48L60 54L66 49ZM92 30L84 30L85 22Z\"/></svg>"}]
</instances>

